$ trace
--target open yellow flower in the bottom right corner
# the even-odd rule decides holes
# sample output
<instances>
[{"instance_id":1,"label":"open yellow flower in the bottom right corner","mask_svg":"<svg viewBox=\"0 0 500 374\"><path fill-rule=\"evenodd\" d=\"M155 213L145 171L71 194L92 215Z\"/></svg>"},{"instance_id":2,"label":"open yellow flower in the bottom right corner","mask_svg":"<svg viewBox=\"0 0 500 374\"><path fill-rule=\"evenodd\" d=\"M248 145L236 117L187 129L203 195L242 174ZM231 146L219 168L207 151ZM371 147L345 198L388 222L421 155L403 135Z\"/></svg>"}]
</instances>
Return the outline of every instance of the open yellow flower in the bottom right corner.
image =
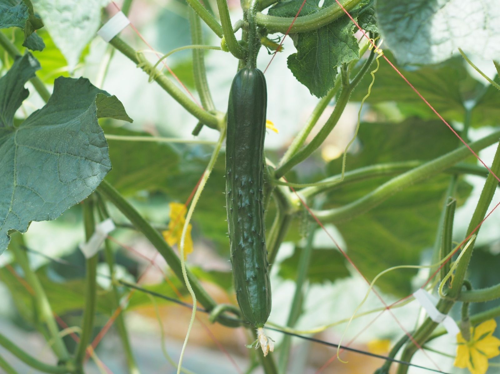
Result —
<instances>
[{"instance_id":1,"label":"open yellow flower in the bottom right corner","mask_svg":"<svg viewBox=\"0 0 500 374\"><path fill-rule=\"evenodd\" d=\"M471 374L484 374L488 370L488 359L500 355L500 340L493 337L496 329L495 320L483 322L470 328L470 341L465 341L462 334L456 336L458 347L453 364L457 368L467 368Z\"/></svg>"}]
</instances>

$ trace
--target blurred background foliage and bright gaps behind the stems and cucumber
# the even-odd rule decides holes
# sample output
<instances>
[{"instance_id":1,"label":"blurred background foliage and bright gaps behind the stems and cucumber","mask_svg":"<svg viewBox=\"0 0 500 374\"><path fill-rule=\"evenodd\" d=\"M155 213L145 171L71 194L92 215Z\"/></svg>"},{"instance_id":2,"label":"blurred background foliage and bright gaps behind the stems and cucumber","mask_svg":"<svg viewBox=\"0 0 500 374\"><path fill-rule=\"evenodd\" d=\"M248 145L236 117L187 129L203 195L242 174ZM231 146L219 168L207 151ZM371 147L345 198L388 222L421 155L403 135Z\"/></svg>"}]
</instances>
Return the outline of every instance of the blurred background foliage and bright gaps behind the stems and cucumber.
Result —
<instances>
[{"instance_id":1,"label":"blurred background foliage and bright gaps behind the stems and cucumber","mask_svg":"<svg viewBox=\"0 0 500 374\"><path fill-rule=\"evenodd\" d=\"M234 12L233 18L238 19L239 4L230 4ZM187 6L183 1L136 0L133 2L130 19L158 51L164 53L190 44ZM217 45L218 40L208 29L205 31L206 43ZM23 49L22 30L7 29L0 32L13 38L15 44ZM48 32L40 29L37 33L46 46L42 52L33 52L33 55L40 61L42 68L39 76L46 84L52 85L59 75L83 75L92 83L99 83L96 79L102 68L102 56L106 49L103 40L94 38L83 50L78 64L69 68ZM124 30L122 35L137 49L147 48L131 29ZM317 100L285 68L286 57L295 50L291 38L287 38L283 45L284 52L276 56L266 72L269 98L267 116L279 130L278 134L269 132L266 137L266 156L272 161L277 161L287 149ZM390 51L384 49L384 52L389 59L394 60ZM147 55L153 60L152 54ZM488 70L485 62L478 59L478 56L474 57L474 62L481 68L484 66L484 70L493 76L492 70ZM215 105L224 110L233 76L228 72L236 71L236 60L221 51L206 52L205 59ZM261 51L258 65L265 66L269 59L270 56L265 50ZM3 53L0 54L0 60L4 73L11 61ZM194 92L190 52L175 53L167 59L167 63L189 90ZM472 111L473 128L469 131L470 139L483 136L489 131L489 126L497 125L500 115L498 91L491 86L486 88L482 78L471 70L460 56L452 56L439 64L424 67L398 67L456 129L463 125L468 100L481 93L482 97ZM449 129L435 119L435 114L383 61L375 77L372 93L366 101L369 105L366 105L362 112L358 137L347 155L347 170L390 161L430 160L458 145L458 140ZM370 79L367 74L354 90L352 102L348 104L338 125L323 144L322 151L316 152L313 157L298 165L293 173L290 173L290 181L311 183L340 172L339 156L353 134L359 101L365 95ZM495 79L498 81L498 77ZM41 101L33 94L32 87L28 88L31 95L18 112L19 118L41 106ZM101 88L116 94L127 113L134 119L132 124L101 120L100 124L106 134L192 139L190 132L196 125L196 120L155 84L149 84L147 76L118 52L112 56ZM333 103L330 103L325 115L316 125L316 130L321 127L332 108ZM215 140L217 133L205 127L199 137ZM106 177L107 181L130 199L159 230L168 223L168 203L183 203L187 200L208 162L212 149L210 145L188 143L109 140L108 144L113 169ZM480 154L487 164L491 162L492 152L493 150L488 148ZM475 160L471 157L467 162L473 163ZM193 216L194 252L189 256L188 263L217 302L235 303L228 262L223 172L224 157L221 154ZM389 178L369 179L332 190L324 195L324 207L336 207L351 202L387 179ZM418 183L361 216L339 223L335 227L326 227L368 279L391 266L428 263L448 180L447 175L440 175ZM457 241L463 238L483 180L481 177L470 176L460 178L460 208L456 214L454 232ZM495 195L493 202L496 203L499 198L500 195ZM270 227L274 212L275 208L271 203L266 216L267 227ZM470 280L474 287L485 287L500 282L497 271L500 252L499 214L495 212L481 228L470 271ZM163 260L154 255L155 251L150 244L128 227L127 221L118 211L111 209L111 216L119 226L112 233L115 241L111 242L111 246L116 254L116 269L120 277L136 280L150 265L144 257L154 258L152 261L155 265L150 267L146 276L141 279L143 287L174 298L180 295L189 302L185 289L169 273ZM296 269L304 246L304 226L307 227L304 221L301 216L293 220L272 266L273 310L269 321L277 325L285 324L294 292ZM33 222L24 237L31 264L37 269L37 275L53 311L68 326L78 325L84 303L84 258L77 248L83 241L81 207L72 207L55 221ZM101 261L104 259L101 258ZM20 269L14 264L13 268L9 268L11 262L12 257L8 251L0 257L0 294L3 300L0 306L0 328L17 343L32 347L31 353L34 356L43 358L49 355L49 351L34 333L36 316L33 315L32 298L15 275L16 272L22 275ZM108 274L106 269L105 266L98 269L99 274L104 276L99 277L95 333L113 313L109 298L109 281L105 278ZM163 276L163 272L166 276ZM391 302L409 294L415 286L423 283L426 276L428 271L400 270L384 276L377 287L386 302ZM307 277L308 291L297 329L312 328L350 317L366 292L364 281L319 229L316 231ZM124 286L120 287L120 291L123 295L129 292ZM176 358L190 311L161 299L156 302L161 312L167 350ZM472 312L484 311L497 304L498 302L475 304ZM377 307L380 307L380 303L370 296L363 310ZM137 352L138 365L143 373L173 373L173 368L161 353L154 308L151 299L140 292L135 292L128 301L125 312L132 345ZM412 329L412 323L418 315L418 307L413 303L395 310L394 313L407 329ZM210 325L206 316L198 315L199 320L195 323L191 335L185 367L196 373L236 373L236 365L241 373L244 372L248 357L252 357L252 352L246 350L243 345L246 342L245 332L241 329L230 330ZM369 316L354 320L345 339L354 337L369 321ZM210 330L209 334L206 329ZM337 341L342 331L343 325L340 325L327 330L319 337ZM395 340L400 335L399 327L385 314L356 340L355 347L366 349L366 344L374 339ZM116 330L111 327L96 353L113 373L125 373L116 336ZM276 333L273 338L279 343L281 336ZM68 345L74 345L69 336L65 341ZM235 364L227 359L215 342L220 342L225 347ZM293 343L293 355L290 356L293 365L290 365L289 373L313 373L314 368L323 365L333 355L332 350L323 347L295 340ZM447 352L453 354L454 346L449 344ZM1 349L0 353L4 355ZM5 357L10 356L5 353ZM347 354L344 359L349 361L349 364L334 362L324 373L368 373L380 364L376 360L361 360L353 354ZM444 363L444 368L450 367L449 359L436 356L436 360ZM20 365L19 368L20 373L27 373L26 367ZM90 362L88 373L97 372L97 368Z\"/></svg>"}]
</instances>

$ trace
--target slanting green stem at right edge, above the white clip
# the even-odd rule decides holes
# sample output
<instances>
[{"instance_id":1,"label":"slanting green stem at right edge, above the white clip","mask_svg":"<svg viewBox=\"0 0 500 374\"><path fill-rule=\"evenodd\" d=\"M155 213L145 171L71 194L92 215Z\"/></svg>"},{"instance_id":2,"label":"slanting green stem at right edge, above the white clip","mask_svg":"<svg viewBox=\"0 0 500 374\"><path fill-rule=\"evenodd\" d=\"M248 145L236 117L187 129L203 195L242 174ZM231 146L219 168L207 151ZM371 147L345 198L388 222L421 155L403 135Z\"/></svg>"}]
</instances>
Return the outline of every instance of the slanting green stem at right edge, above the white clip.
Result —
<instances>
[{"instance_id":1,"label":"slanting green stem at right edge, above the white clip","mask_svg":"<svg viewBox=\"0 0 500 374\"><path fill-rule=\"evenodd\" d=\"M491 165L491 171L495 175L500 174L500 144L496 148L496 153ZM470 219L469 226L465 235L466 237L468 237L484 219L484 216L488 211L489 204L491 203L491 199L493 198L497 186L498 180L493 174L490 173L486 178L486 181L484 182L484 187L482 188L481 195L479 196L479 201L477 202L474 213L472 214L472 218ZM476 237L478 233L479 229L474 232ZM460 294L462 283L465 279L465 272L467 271L470 257L472 256L472 251L474 249L474 243L475 239L470 244L469 249L463 254L460 263L456 267L455 275L453 277L453 281L451 282L450 290L447 295L450 298L456 298Z\"/></svg>"}]
</instances>

